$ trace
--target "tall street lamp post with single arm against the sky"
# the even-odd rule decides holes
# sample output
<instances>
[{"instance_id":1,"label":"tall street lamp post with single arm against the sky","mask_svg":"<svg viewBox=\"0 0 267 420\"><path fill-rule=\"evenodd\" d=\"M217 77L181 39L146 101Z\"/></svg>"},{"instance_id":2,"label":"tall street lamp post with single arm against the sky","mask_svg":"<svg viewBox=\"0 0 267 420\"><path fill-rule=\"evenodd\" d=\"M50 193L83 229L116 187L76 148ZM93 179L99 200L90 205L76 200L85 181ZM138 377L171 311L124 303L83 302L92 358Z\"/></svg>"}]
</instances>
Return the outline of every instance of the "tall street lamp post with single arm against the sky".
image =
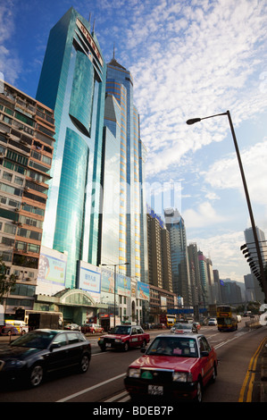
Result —
<instances>
[{"instance_id":1,"label":"tall street lamp post with single arm against the sky","mask_svg":"<svg viewBox=\"0 0 267 420\"><path fill-rule=\"evenodd\" d=\"M248 189L247 189L247 186L246 186L245 172L244 172L243 164L242 164L241 157L240 157L240 154L239 154L238 141L237 141L237 138L236 138L236 134L235 134L235 130L234 130L234 126L233 126L233 123L232 123L232 120L231 120L230 113L229 113L229 111L227 111L226 113L216 113L215 115L210 115L210 116L204 117L204 118L193 118L193 119L188 120L187 124L192 125L192 124L195 124L196 122L206 120L207 118L213 118L213 117L217 117L217 116L221 116L221 115L227 115L228 116L229 126L230 126L230 130L231 130L231 133L232 133L232 138L234 140L236 153L237 153L237 156L238 156L238 164L239 164L239 169L240 169L240 172L241 172L243 186L244 186L244 189L245 189L246 204L247 204L248 212L249 212L249 215L250 215L251 226L252 226L252 230L253 230L253 234L254 234L254 243L255 243L255 248L256 248L256 251L257 251L257 257L258 257L258 261L259 261L261 278L262 278L262 281L263 281L263 292L264 292L264 295L265 295L265 299L267 301L267 283L266 283L265 273L264 273L264 268L263 268L263 258L262 258L261 249L260 249L260 246L259 246L259 240L258 240L258 237L257 237L255 223L254 223L254 214L253 214L253 211L252 211L252 206L251 206L251 203L250 203Z\"/></svg>"}]
</instances>

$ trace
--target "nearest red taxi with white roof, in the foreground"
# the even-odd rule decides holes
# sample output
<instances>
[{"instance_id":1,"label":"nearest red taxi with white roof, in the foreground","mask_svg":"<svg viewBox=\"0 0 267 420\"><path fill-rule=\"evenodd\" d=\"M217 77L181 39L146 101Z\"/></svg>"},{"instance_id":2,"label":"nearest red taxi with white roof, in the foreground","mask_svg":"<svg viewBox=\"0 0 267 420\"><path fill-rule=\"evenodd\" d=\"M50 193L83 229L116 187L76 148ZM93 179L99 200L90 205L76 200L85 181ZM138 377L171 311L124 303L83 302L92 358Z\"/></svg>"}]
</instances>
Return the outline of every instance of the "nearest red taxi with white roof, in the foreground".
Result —
<instances>
[{"instance_id":1,"label":"nearest red taxi with white roof, in the foreground","mask_svg":"<svg viewBox=\"0 0 267 420\"><path fill-rule=\"evenodd\" d=\"M124 384L133 401L202 400L217 375L217 356L202 334L157 336L129 365Z\"/></svg>"}]
</instances>

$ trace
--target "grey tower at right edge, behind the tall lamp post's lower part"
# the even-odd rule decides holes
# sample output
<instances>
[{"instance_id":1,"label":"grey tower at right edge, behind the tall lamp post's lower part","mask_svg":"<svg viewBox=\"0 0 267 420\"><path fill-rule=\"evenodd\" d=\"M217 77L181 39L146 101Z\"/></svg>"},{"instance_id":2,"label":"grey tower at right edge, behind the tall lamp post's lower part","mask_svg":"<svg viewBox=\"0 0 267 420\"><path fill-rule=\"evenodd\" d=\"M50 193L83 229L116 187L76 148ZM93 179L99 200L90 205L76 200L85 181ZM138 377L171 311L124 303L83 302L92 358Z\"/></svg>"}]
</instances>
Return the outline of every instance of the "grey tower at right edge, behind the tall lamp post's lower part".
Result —
<instances>
[{"instance_id":1,"label":"grey tower at right edge, behind the tall lamp post's lower part","mask_svg":"<svg viewBox=\"0 0 267 420\"><path fill-rule=\"evenodd\" d=\"M256 227L256 233L257 233L257 238L259 241L259 246L262 250L263 266L265 266L267 262L267 242L265 239L265 234L258 227ZM252 228L246 229L244 231L244 234L245 234L245 240L246 240L246 248L248 249L248 252L251 254L251 257L254 257L254 262L257 265L258 258L256 254L256 248L255 248L255 243L254 243L254 233L253 233ZM260 270L258 270L258 272L260 272ZM259 281L254 276L254 273L252 271L251 273L253 274L253 278L254 278L255 298L256 300L259 300L260 302L264 302L265 295L263 293L262 287Z\"/></svg>"}]
</instances>

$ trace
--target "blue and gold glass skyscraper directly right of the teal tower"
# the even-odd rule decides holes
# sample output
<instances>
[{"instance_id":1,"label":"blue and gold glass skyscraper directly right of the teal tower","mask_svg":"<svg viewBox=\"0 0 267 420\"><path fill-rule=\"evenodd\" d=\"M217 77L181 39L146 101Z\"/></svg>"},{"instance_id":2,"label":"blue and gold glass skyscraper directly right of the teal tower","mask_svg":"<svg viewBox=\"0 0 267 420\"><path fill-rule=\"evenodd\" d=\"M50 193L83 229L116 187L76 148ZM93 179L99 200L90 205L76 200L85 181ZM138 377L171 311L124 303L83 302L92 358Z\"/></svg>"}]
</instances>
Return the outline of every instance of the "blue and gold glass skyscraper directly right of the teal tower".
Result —
<instances>
[{"instance_id":1,"label":"blue and gold glass skyscraper directly right of the teal tower","mask_svg":"<svg viewBox=\"0 0 267 420\"><path fill-rule=\"evenodd\" d=\"M147 282L146 207L143 194L146 147L140 139L131 74L114 57L107 64L104 124L108 129L105 130L106 152L111 147L110 153L104 158L104 203L108 202L105 197L110 193L106 187L109 174L109 178L113 179L113 189L117 191L116 199L109 204L113 207L113 213L117 213L117 218L113 215L113 223L119 225L119 248L107 249L104 244L104 235L109 228L103 213L101 263L121 263L121 273ZM119 177L114 171L108 170L108 166L113 167L111 159L116 168L119 165Z\"/></svg>"}]
</instances>

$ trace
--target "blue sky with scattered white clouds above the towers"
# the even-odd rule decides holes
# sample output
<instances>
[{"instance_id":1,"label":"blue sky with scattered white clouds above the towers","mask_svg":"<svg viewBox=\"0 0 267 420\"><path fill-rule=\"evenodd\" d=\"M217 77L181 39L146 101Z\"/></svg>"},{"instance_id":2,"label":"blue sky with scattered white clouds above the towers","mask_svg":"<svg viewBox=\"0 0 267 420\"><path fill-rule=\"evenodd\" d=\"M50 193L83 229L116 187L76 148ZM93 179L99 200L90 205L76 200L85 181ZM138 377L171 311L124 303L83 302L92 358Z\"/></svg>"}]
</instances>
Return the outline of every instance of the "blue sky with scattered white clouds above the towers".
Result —
<instances>
[{"instance_id":1,"label":"blue sky with scattered white clouds above the towers","mask_svg":"<svg viewBox=\"0 0 267 420\"><path fill-rule=\"evenodd\" d=\"M188 244L221 279L244 281L240 246L251 223L228 117L186 122L229 110L254 221L267 238L266 0L0 0L0 72L30 97L49 31L71 5L91 14L105 62L114 47L132 74L155 211L177 206ZM171 185L174 203L164 193Z\"/></svg>"}]
</instances>

